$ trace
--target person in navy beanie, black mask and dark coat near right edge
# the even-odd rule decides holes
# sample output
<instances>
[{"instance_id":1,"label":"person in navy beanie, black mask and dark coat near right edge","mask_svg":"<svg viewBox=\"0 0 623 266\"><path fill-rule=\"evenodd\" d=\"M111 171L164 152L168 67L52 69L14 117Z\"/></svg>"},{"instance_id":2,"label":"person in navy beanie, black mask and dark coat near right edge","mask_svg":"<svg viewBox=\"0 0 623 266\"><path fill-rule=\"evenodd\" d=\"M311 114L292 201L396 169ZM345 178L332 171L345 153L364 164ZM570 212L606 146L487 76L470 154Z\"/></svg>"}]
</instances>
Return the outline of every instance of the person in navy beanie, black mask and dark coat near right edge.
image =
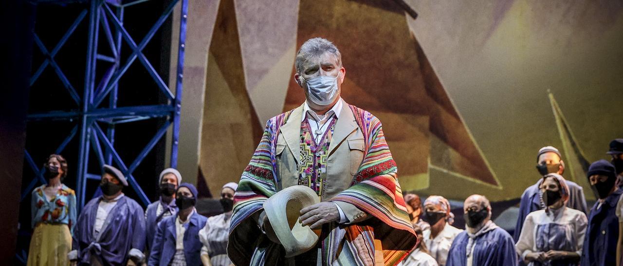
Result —
<instances>
[{"instance_id":1,"label":"person in navy beanie, black mask and dark coat near right edge","mask_svg":"<svg viewBox=\"0 0 623 266\"><path fill-rule=\"evenodd\" d=\"M621 265L621 195L616 183L614 165L598 160L588 168L586 176L599 199L591 208L584 237L582 266Z\"/></svg>"}]
</instances>

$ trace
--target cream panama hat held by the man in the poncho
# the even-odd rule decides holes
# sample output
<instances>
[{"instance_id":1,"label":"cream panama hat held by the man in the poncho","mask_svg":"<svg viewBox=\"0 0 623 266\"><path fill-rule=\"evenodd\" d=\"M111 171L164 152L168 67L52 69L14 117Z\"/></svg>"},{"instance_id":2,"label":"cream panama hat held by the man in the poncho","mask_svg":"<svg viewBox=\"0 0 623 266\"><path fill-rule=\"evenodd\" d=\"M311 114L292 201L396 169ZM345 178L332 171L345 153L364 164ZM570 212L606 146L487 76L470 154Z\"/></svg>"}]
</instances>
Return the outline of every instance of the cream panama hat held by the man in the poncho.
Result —
<instances>
[{"instance_id":1,"label":"cream panama hat held by the man in the poncho","mask_svg":"<svg viewBox=\"0 0 623 266\"><path fill-rule=\"evenodd\" d=\"M313 231L298 221L301 209L316 203L320 203L316 192L302 185L285 188L264 202L264 211L273 231L270 234L274 234L269 238L277 237L285 249L285 257L303 254L318 242L320 231Z\"/></svg>"}]
</instances>

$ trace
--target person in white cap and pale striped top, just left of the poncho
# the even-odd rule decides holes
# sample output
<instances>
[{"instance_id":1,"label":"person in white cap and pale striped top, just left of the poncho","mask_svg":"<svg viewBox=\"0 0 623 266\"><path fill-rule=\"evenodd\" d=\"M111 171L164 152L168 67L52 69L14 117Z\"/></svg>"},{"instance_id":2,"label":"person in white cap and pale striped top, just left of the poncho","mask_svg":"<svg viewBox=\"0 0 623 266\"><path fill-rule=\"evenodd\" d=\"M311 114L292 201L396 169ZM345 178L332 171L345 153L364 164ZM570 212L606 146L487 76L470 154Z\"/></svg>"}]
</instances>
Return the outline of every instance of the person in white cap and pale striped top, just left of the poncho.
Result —
<instances>
[{"instance_id":1,"label":"person in white cap and pale striped top, just left of the poncho","mask_svg":"<svg viewBox=\"0 0 623 266\"><path fill-rule=\"evenodd\" d=\"M229 224L234 207L234 193L238 184L229 182L221 190L221 206L224 213L207 218L206 226L199 231L199 240L203 243L201 261L203 265L226 266L231 264L227 257Z\"/></svg>"}]
</instances>

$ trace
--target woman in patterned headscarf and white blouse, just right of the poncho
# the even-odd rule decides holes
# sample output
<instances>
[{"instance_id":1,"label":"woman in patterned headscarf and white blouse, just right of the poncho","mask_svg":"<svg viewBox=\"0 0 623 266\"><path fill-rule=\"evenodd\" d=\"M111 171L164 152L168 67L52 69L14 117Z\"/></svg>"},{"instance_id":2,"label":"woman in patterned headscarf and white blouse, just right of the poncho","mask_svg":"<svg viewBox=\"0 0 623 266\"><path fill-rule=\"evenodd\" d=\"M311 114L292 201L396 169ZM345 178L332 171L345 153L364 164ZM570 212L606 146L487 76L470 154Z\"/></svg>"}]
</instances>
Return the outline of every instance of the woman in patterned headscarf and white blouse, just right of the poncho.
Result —
<instances>
[{"instance_id":1,"label":"woman in patterned headscarf and white blouse, just right of the poncho","mask_svg":"<svg viewBox=\"0 0 623 266\"><path fill-rule=\"evenodd\" d=\"M430 255L439 265L444 266L452 241L463 231L452 226L454 214L450 212L450 202L442 196L429 196L424 201L422 219L430 224L430 229L422 234Z\"/></svg>"}]
</instances>

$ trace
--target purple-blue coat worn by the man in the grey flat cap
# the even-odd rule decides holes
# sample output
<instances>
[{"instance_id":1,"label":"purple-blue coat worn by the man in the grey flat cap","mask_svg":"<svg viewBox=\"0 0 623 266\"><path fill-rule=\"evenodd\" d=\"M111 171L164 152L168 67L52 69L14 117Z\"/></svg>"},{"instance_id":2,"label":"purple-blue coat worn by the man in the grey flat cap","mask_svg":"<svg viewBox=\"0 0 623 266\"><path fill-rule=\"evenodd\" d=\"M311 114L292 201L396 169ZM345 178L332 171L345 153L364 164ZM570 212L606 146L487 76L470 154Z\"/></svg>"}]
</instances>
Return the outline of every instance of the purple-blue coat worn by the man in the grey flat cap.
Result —
<instances>
[{"instance_id":1,"label":"purple-blue coat worn by the man in the grey flat cap","mask_svg":"<svg viewBox=\"0 0 623 266\"><path fill-rule=\"evenodd\" d=\"M97 256L103 265L125 265L130 249L145 248L143 208L134 199L121 197L108 214L99 239L94 239L93 227L101 199L91 199L78 216L73 243L73 249L78 250L78 263L88 265L91 256Z\"/></svg>"}]
</instances>

